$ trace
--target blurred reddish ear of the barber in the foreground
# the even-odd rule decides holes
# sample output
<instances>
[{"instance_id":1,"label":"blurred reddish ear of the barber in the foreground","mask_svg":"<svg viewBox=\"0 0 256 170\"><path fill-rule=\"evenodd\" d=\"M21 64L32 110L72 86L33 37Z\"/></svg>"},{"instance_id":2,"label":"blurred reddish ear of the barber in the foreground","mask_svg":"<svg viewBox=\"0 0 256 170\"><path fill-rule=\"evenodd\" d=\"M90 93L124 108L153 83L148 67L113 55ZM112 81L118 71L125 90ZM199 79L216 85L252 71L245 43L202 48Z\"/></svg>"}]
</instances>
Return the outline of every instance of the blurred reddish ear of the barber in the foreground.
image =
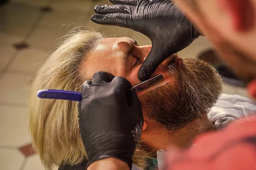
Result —
<instances>
[{"instance_id":1,"label":"blurred reddish ear of the barber in the foreground","mask_svg":"<svg viewBox=\"0 0 256 170\"><path fill-rule=\"evenodd\" d=\"M255 6L251 0L217 0L227 12L236 31L248 31L255 26Z\"/></svg>"}]
</instances>

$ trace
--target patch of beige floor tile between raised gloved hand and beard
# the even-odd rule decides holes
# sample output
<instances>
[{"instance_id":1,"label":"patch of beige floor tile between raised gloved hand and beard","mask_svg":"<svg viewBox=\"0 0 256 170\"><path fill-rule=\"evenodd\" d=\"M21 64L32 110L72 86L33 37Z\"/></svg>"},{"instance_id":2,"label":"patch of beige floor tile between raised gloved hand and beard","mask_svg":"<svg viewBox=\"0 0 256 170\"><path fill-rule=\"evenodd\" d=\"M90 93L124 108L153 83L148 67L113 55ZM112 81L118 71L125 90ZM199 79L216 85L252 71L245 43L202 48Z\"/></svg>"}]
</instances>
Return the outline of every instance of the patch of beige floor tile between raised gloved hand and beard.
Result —
<instances>
[{"instance_id":1,"label":"patch of beige floor tile between raised gloved hand and beard","mask_svg":"<svg viewBox=\"0 0 256 170\"><path fill-rule=\"evenodd\" d=\"M205 37L198 37L191 45L178 52L181 58L197 57L202 51L212 48L212 45Z\"/></svg>"}]
</instances>

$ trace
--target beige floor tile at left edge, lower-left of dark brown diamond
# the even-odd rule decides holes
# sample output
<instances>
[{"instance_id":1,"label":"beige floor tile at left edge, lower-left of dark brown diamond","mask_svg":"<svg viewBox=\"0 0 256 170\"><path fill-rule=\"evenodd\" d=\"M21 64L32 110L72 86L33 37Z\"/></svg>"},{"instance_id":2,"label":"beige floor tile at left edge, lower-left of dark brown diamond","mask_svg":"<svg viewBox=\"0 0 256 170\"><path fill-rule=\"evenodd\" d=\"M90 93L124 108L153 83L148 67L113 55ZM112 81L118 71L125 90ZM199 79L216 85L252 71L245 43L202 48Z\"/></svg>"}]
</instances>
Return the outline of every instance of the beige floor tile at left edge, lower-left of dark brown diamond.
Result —
<instances>
[{"instance_id":1,"label":"beige floor tile at left edge, lower-left of dark brown diamond","mask_svg":"<svg viewBox=\"0 0 256 170\"><path fill-rule=\"evenodd\" d=\"M9 46L0 46L0 72L14 54L15 49Z\"/></svg>"}]
</instances>

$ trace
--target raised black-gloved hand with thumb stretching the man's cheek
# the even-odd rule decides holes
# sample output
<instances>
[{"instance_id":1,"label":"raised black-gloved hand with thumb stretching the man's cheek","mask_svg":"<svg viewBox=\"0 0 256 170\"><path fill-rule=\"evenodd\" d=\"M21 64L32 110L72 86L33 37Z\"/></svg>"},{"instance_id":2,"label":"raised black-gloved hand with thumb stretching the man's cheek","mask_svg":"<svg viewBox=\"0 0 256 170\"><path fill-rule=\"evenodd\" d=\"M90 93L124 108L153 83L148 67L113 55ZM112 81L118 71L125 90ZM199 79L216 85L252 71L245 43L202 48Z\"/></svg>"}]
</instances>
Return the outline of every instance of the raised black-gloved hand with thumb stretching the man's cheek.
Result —
<instances>
[{"instance_id":1,"label":"raised black-gloved hand with thumb stretching the man's cheek","mask_svg":"<svg viewBox=\"0 0 256 170\"><path fill-rule=\"evenodd\" d=\"M183 50L200 35L177 5L170 0L110 0L113 6L96 6L95 23L131 28L152 42L140 67L139 79L148 79L170 55Z\"/></svg>"}]
</instances>

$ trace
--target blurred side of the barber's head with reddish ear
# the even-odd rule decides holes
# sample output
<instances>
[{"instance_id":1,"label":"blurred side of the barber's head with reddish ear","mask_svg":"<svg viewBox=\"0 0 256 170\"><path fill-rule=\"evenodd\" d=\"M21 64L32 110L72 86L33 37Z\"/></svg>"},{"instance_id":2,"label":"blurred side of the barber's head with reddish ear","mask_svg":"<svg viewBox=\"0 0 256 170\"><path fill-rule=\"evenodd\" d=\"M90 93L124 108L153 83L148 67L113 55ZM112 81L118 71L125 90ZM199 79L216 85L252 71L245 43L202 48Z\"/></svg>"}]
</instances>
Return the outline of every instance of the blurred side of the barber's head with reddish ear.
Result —
<instances>
[{"instance_id":1,"label":"blurred side of the barber's head with reddish ear","mask_svg":"<svg viewBox=\"0 0 256 170\"><path fill-rule=\"evenodd\" d=\"M175 0L244 82L256 79L254 0Z\"/></svg>"}]
</instances>

